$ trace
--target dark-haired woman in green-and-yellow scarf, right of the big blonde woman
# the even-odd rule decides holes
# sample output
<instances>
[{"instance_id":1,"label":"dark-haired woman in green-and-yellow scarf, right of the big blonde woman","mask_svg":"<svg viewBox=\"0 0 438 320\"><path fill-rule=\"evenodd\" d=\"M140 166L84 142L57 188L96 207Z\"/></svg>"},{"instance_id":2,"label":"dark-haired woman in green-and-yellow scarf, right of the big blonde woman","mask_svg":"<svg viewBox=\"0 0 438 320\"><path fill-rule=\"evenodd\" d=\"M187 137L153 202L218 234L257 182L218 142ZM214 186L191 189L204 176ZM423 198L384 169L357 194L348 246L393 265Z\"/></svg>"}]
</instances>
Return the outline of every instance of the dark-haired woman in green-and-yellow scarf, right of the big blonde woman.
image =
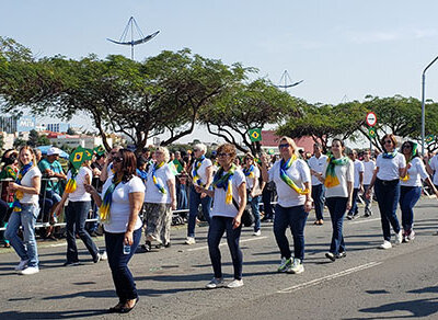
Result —
<instances>
[{"instance_id":1,"label":"dark-haired woman in green-and-yellow scarf, right of the big blonde woman","mask_svg":"<svg viewBox=\"0 0 438 320\"><path fill-rule=\"evenodd\" d=\"M333 139L332 155L319 176L325 185L325 203L332 218L332 242L325 256L331 261L344 258L345 242L343 225L345 212L351 208L353 182L355 168L353 161L344 156L345 145L341 139Z\"/></svg>"}]
</instances>

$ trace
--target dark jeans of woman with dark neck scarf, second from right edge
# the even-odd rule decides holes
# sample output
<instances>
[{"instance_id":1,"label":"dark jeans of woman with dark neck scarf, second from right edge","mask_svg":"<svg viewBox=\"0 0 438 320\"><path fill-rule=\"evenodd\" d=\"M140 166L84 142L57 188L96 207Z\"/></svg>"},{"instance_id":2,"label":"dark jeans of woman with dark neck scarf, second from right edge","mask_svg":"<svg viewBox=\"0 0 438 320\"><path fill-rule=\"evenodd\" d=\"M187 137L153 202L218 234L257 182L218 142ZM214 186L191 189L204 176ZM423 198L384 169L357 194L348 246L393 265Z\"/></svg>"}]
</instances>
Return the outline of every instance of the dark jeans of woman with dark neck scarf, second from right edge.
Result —
<instances>
[{"instance_id":1,"label":"dark jeans of woman with dark neck scarf, second from right edge","mask_svg":"<svg viewBox=\"0 0 438 320\"><path fill-rule=\"evenodd\" d=\"M391 241L391 226L395 233L400 232L400 224L396 217L396 206L400 199L400 180L382 181L376 179L376 197L379 204L383 239Z\"/></svg>"}]
</instances>

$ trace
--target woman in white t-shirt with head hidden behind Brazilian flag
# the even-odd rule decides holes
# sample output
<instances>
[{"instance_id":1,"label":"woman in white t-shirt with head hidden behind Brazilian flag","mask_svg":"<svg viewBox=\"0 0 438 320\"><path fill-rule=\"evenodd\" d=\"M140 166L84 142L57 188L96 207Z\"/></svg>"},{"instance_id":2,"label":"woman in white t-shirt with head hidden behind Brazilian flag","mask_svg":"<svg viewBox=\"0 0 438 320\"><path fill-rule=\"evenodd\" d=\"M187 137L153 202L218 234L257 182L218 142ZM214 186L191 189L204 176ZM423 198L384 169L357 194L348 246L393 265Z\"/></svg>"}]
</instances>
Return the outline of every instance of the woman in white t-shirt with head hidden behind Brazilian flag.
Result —
<instances>
[{"instance_id":1,"label":"woman in white t-shirt with head hidden behind Brazilian flag","mask_svg":"<svg viewBox=\"0 0 438 320\"><path fill-rule=\"evenodd\" d=\"M66 207L67 261L64 263L64 266L79 264L76 235L85 244L94 263L97 263L103 256L99 253L99 248L85 230L85 220L91 209L91 196L85 191L85 184L91 183L92 171L90 164L91 160L87 160L79 170L73 167L70 168L67 173L67 185L62 198L55 209L55 214L59 216L68 199Z\"/></svg>"}]
</instances>

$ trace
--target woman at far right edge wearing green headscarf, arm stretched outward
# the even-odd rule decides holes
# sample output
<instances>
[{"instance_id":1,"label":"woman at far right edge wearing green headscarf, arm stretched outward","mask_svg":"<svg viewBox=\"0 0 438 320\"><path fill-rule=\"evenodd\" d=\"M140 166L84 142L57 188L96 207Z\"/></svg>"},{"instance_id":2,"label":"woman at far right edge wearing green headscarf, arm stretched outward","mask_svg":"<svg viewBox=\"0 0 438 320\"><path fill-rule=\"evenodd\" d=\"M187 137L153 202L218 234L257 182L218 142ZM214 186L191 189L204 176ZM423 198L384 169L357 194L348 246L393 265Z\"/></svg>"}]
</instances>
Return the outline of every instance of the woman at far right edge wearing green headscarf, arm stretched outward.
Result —
<instances>
[{"instance_id":1,"label":"woman at far right edge wearing green headscarf, arm stretched outward","mask_svg":"<svg viewBox=\"0 0 438 320\"><path fill-rule=\"evenodd\" d=\"M402 153L407 163L407 174L400 182L400 208L402 209L403 242L414 240L414 206L422 195L422 179L430 185L438 197L438 191L426 172L425 164L418 156L417 144L406 141Z\"/></svg>"}]
</instances>

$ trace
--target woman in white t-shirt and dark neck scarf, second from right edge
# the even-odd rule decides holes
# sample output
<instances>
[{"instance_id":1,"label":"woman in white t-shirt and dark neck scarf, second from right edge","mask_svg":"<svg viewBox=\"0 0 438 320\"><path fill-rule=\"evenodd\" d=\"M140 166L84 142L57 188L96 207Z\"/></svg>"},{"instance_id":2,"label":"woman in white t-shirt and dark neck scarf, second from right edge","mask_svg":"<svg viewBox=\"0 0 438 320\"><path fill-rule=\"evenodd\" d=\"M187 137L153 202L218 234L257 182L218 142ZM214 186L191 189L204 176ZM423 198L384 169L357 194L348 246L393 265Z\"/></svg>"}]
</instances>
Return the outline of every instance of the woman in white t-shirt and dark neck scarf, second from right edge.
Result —
<instances>
[{"instance_id":1,"label":"woman in white t-shirt and dark neck scarf, second from right edge","mask_svg":"<svg viewBox=\"0 0 438 320\"><path fill-rule=\"evenodd\" d=\"M376 197L379 204L380 218L382 221L383 243L380 249L390 249L391 226L395 232L395 243L402 243L402 230L396 217L396 207L400 199L400 178L406 175L406 160L397 152L394 135L384 135L380 141L383 146L383 153L376 160L376 171L367 197L370 197L372 186L376 185Z\"/></svg>"}]
</instances>

